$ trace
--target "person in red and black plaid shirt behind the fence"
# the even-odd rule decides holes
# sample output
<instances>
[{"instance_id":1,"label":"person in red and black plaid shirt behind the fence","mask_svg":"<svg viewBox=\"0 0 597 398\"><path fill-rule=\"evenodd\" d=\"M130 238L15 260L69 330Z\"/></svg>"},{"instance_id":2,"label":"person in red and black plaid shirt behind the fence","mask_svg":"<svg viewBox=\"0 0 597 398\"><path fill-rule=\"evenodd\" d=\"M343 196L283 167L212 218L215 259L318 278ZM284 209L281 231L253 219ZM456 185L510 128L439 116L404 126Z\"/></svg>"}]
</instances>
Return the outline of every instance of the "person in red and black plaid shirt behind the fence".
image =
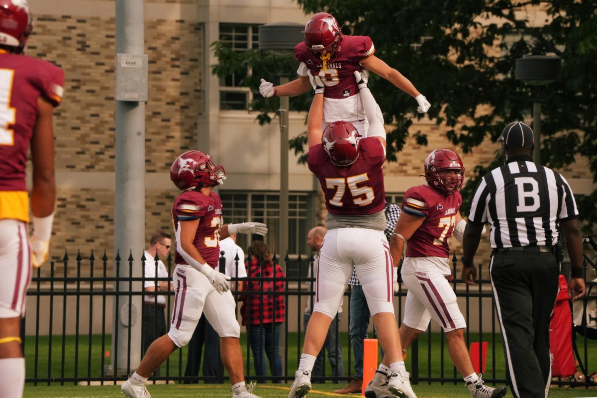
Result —
<instances>
[{"instance_id":1,"label":"person in red and black plaid shirt behind the fence","mask_svg":"<svg viewBox=\"0 0 597 398\"><path fill-rule=\"evenodd\" d=\"M264 242L254 242L247 249L248 281L244 283L243 291L257 292L284 292L282 280L259 280L259 278L283 278L284 271L278 264L273 264L272 254ZM272 376L282 375L282 358L280 357L280 329L286 307L283 295L253 294L241 295L242 325L247 326L247 334L253 351L255 374L267 374L265 359L266 354ZM281 380L275 380L281 382Z\"/></svg>"}]
</instances>

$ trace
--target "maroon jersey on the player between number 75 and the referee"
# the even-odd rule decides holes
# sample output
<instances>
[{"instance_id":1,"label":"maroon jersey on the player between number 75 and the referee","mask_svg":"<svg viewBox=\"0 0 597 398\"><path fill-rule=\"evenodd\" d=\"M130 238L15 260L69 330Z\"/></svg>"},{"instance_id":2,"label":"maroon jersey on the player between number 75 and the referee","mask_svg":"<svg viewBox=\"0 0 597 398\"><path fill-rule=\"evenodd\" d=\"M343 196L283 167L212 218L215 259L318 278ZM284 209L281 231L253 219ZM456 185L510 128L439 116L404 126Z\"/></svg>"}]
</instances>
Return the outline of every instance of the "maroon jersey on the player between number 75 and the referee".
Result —
<instances>
[{"instance_id":1,"label":"maroon jersey on the player between number 75 and the referee","mask_svg":"<svg viewBox=\"0 0 597 398\"><path fill-rule=\"evenodd\" d=\"M426 217L408 239L407 257L450 257L448 237L452 236L461 204L460 192L444 195L429 185L407 190L402 199L402 211Z\"/></svg>"}]
</instances>

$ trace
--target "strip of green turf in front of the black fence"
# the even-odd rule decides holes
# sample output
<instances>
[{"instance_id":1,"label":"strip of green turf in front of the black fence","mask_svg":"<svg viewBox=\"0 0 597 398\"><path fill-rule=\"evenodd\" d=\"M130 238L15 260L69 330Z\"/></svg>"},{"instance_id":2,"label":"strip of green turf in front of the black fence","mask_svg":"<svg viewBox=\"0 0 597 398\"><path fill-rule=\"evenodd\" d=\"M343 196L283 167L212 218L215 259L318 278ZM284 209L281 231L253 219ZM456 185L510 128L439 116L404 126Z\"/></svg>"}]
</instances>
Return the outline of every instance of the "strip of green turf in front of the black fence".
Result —
<instances>
[{"instance_id":1,"label":"strip of green turf in front of the black fence","mask_svg":"<svg viewBox=\"0 0 597 398\"><path fill-rule=\"evenodd\" d=\"M360 397L358 394L334 394L336 384L317 384L307 395L308 398L334 397ZM230 385L150 385L147 390L152 398L185 398L185 397L210 397L230 398ZM469 390L460 385L420 384L414 385L413 390L419 398L470 398ZM258 384L254 393L262 398L286 398L290 388L288 385ZM507 396L511 397L512 394ZM584 390L581 388L557 388L550 391L551 398L597 397L597 390ZM115 385L105 386L63 386L63 387L25 387L25 398L112 398L124 397L120 387Z\"/></svg>"}]
</instances>

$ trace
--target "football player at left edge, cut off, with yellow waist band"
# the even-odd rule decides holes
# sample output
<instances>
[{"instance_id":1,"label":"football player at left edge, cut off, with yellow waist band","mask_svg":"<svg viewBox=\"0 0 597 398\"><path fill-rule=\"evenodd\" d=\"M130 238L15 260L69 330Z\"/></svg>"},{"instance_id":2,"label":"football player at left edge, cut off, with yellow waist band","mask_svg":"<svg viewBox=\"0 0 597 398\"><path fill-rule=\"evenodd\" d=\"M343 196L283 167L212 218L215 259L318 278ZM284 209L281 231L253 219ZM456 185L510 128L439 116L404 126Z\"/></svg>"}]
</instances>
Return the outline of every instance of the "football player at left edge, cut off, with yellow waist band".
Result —
<instances>
[{"instance_id":1,"label":"football player at left edge, cut off, with yellow waist band","mask_svg":"<svg viewBox=\"0 0 597 398\"><path fill-rule=\"evenodd\" d=\"M64 73L23 55L33 20L26 0L0 0L0 396L20 398L25 380L20 322L31 266L48 257L54 219L54 107ZM33 163L29 239L27 151Z\"/></svg>"}]
</instances>

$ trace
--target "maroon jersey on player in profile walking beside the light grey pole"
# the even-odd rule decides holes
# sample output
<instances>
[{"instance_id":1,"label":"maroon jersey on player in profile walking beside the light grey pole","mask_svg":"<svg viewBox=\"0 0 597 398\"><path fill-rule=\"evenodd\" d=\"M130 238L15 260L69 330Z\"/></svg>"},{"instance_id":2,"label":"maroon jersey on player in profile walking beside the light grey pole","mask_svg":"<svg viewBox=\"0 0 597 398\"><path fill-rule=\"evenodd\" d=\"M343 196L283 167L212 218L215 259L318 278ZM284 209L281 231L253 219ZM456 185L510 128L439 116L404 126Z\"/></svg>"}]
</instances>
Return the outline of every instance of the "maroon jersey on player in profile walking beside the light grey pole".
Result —
<instances>
[{"instance_id":1,"label":"maroon jersey on player in profile walking beside the light grey pole","mask_svg":"<svg viewBox=\"0 0 597 398\"><path fill-rule=\"evenodd\" d=\"M220 258L220 229L224 223L220 196L213 192L210 196L205 196L198 191L183 192L174 200L172 218L176 230L178 230L179 221L184 223L184 221L201 218L193 245L205 262L212 268L216 268ZM174 261L176 264L187 264L178 251Z\"/></svg>"}]
</instances>

